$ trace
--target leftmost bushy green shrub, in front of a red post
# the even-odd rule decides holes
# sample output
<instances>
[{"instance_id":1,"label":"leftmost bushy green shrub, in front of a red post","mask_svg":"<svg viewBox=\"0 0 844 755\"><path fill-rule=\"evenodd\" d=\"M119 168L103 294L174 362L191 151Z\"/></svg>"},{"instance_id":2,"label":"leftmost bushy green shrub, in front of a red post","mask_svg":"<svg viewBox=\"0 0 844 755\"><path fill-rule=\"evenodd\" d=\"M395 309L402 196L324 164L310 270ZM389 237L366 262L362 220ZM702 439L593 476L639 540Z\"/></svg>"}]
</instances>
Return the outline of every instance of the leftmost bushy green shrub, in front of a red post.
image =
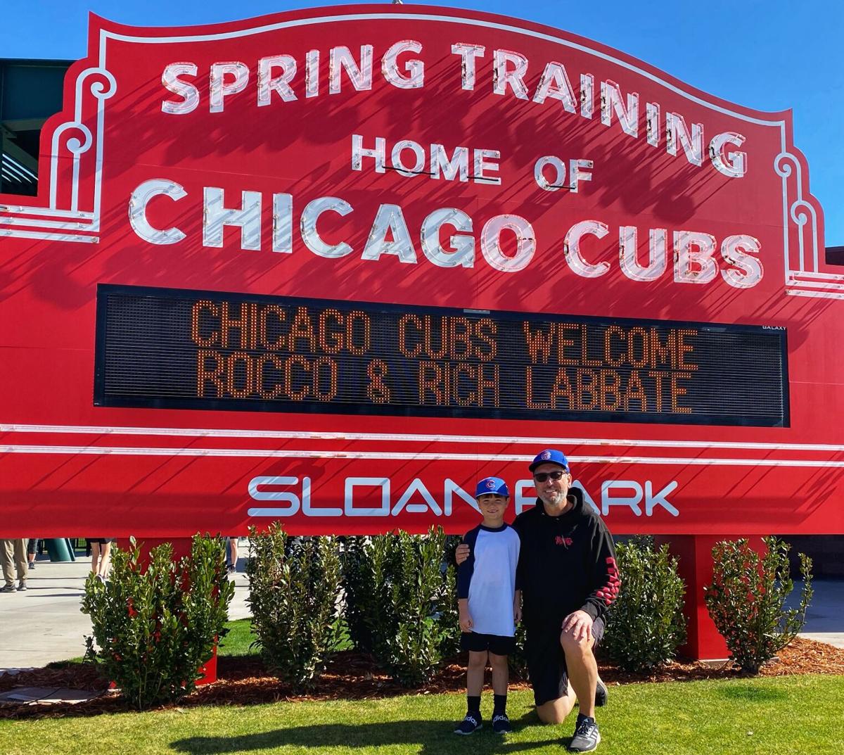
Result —
<instances>
[{"instance_id":1,"label":"leftmost bushy green shrub, in front of a red post","mask_svg":"<svg viewBox=\"0 0 844 755\"><path fill-rule=\"evenodd\" d=\"M82 611L91 617L86 657L100 665L134 707L146 709L190 693L200 667L225 634L235 586L225 577L225 544L195 535L190 557L173 560L173 546L150 551L113 548L111 575L85 582Z\"/></svg>"}]
</instances>

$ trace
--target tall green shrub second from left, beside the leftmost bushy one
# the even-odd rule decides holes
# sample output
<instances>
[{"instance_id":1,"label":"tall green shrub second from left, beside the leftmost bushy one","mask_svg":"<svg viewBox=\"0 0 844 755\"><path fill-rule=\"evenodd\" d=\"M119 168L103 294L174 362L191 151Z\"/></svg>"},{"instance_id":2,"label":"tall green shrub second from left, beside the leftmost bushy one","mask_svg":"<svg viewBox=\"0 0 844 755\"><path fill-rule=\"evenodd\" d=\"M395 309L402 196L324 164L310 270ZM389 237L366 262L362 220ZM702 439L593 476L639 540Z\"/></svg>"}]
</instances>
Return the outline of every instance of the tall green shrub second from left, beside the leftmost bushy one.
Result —
<instances>
[{"instance_id":1,"label":"tall green shrub second from left, beside the leftmost bushy one","mask_svg":"<svg viewBox=\"0 0 844 755\"><path fill-rule=\"evenodd\" d=\"M340 616L337 538L297 537L276 522L250 530L246 562L252 632L264 663L296 689L306 689L348 640Z\"/></svg>"}]
</instances>

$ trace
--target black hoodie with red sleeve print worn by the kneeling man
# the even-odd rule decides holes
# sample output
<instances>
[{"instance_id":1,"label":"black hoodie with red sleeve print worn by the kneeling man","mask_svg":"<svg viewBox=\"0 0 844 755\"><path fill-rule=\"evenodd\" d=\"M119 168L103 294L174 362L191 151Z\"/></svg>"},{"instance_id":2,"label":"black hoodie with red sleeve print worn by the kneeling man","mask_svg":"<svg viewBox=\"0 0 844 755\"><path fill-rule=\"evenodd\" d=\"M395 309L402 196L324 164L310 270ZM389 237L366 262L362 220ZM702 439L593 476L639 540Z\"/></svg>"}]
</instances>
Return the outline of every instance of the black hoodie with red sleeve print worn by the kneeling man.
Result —
<instances>
[{"instance_id":1,"label":"black hoodie with red sleeve print worn by the kneeling man","mask_svg":"<svg viewBox=\"0 0 844 755\"><path fill-rule=\"evenodd\" d=\"M518 573L528 627L560 626L578 609L603 617L619 592L612 535L579 488L568 495L574 508L559 517L545 513L537 499L513 522L522 540Z\"/></svg>"}]
</instances>

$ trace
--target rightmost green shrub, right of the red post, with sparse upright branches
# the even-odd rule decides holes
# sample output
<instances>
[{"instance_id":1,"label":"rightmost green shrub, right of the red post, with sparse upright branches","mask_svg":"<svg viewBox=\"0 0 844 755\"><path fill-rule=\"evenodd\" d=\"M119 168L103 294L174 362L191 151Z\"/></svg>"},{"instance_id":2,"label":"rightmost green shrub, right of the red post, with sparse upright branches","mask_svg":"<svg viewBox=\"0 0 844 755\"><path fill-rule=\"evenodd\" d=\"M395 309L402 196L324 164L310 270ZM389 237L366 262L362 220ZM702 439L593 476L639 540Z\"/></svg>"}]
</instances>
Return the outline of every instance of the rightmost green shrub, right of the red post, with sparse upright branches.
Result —
<instances>
[{"instance_id":1,"label":"rightmost green shrub, right of the red post, with sparse upright branches","mask_svg":"<svg viewBox=\"0 0 844 755\"><path fill-rule=\"evenodd\" d=\"M712 548L712 584L704 588L706 608L727 640L733 661L754 674L797 636L812 600L812 559L799 554L800 605L787 609L785 601L794 589L790 546L776 537L762 540L767 548L762 557L747 539L717 543Z\"/></svg>"}]
</instances>

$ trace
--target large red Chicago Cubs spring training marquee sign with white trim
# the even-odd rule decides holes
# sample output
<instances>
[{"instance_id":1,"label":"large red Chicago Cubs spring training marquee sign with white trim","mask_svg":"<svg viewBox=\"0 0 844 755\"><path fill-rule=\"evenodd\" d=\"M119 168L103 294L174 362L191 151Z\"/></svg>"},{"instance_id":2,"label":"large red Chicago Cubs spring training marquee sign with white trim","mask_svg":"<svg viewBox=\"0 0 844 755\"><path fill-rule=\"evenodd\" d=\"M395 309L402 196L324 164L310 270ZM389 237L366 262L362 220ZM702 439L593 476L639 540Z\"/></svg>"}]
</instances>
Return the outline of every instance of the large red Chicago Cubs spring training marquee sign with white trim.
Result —
<instances>
[{"instance_id":1,"label":"large red Chicago Cubs spring training marquee sign with white trim","mask_svg":"<svg viewBox=\"0 0 844 755\"><path fill-rule=\"evenodd\" d=\"M844 531L790 112L466 10L90 27L0 197L7 536L462 532L547 447L616 533Z\"/></svg>"}]
</instances>

